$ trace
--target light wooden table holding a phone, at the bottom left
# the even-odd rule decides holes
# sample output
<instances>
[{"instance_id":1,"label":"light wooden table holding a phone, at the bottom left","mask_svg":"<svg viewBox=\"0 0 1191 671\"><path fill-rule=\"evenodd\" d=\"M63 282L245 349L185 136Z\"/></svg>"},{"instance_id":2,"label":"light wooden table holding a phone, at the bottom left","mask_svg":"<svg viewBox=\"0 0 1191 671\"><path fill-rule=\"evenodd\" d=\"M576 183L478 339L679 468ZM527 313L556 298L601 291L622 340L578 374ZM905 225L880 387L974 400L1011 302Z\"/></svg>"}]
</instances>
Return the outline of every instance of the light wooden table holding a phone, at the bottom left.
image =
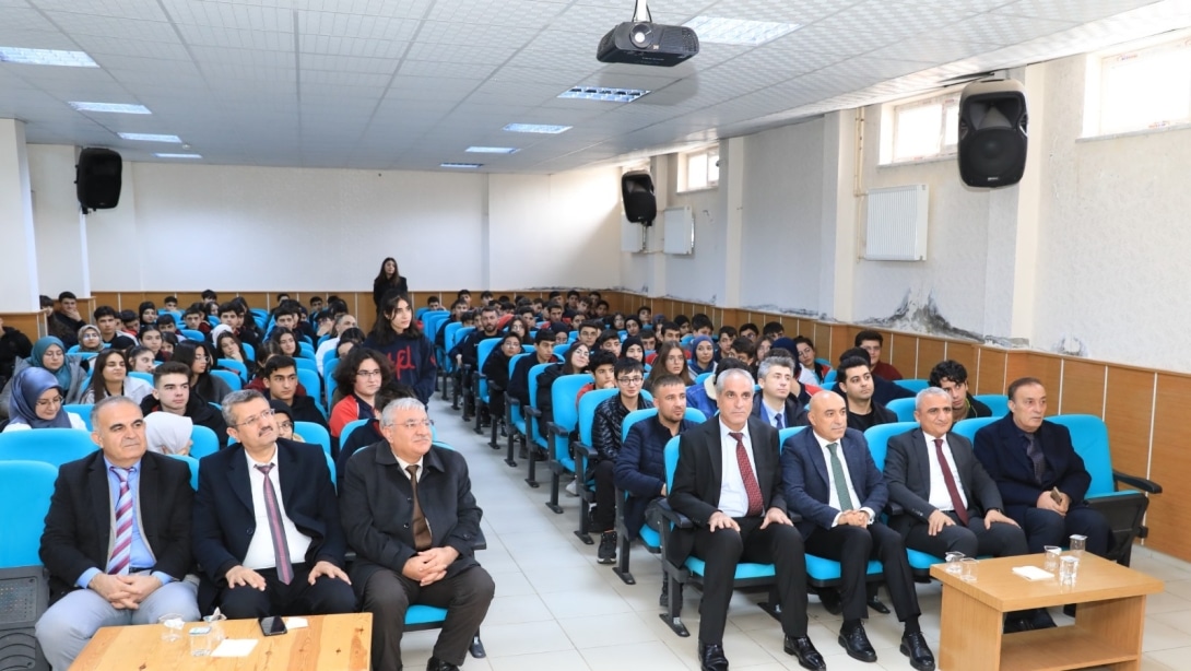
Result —
<instances>
[{"instance_id":1,"label":"light wooden table holding a phone, at the bottom left","mask_svg":"<svg viewBox=\"0 0 1191 671\"><path fill-rule=\"evenodd\" d=\"M95 633L71 671L368 671L372 661L372 614L307 616L310 627L262 636L256 620L227 620L229 639L256 639L248 657L191 657L186 633L167 642L161 625L104 627Z\"/></svg>"}]
</instances>

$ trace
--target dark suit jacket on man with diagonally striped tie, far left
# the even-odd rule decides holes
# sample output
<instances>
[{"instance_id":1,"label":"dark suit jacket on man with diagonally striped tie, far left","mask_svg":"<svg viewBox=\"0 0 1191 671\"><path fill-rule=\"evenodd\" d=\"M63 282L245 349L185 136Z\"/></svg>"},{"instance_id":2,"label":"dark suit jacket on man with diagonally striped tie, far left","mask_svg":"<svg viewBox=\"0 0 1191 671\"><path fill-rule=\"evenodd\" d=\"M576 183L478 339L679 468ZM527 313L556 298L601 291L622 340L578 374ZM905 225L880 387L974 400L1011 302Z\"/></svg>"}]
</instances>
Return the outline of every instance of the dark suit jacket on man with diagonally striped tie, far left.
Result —
<instances>
[{"instance_id":1,"label":"dark suit jacket on man with diagonally striped tie, far left","mask_svg":"<svg viewBox=\"0 0 1191 671\"><path fill-rule=\"evenodd\" d=\"M157 560L154 570L181 580L193 565L191 470L177 459L152 452L141 458L138 467L136 511L142 540ZM52 601L76 589L75 582L88 569L107 569L114 541L113 510L102 452L58 468L40 548Z\"/></svg>"}]
</instances>

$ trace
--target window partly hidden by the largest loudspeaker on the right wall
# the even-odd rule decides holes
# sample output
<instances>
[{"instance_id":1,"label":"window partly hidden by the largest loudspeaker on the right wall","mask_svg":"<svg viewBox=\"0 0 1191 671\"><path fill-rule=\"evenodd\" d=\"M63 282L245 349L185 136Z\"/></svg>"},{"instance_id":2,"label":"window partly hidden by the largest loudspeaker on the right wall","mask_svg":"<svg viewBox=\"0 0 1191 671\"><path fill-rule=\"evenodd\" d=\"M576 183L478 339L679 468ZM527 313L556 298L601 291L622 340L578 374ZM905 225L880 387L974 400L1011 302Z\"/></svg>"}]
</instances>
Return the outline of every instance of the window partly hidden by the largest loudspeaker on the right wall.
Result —
<instances>
[{"instance_id":1,"label":"window partly hidden by the largest loudspeaker on the right wall","mask_svg":"<svg viewBox=\"0 0 1191 671\"><path fill-rule=\"evenodd\" d=\"M883 163L922 161L955 154L960 131L960 92L925 100L894 104L888 108L892 120L892 151ZM885 154L885 153L883 153Z\"/></svg>"}]
</instances>

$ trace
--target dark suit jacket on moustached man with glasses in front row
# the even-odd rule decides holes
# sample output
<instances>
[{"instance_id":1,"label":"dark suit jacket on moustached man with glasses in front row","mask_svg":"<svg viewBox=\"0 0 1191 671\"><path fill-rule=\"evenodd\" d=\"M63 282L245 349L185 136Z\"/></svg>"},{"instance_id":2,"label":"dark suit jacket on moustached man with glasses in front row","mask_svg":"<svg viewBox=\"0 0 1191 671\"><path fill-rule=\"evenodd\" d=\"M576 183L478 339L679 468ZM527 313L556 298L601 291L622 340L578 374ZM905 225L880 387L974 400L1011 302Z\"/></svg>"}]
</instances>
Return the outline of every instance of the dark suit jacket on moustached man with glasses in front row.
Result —
<instances>
[{"instance_id":1,"label":"dark suit jacket on moustached man with glasses in front row","mask_svg":"<svg viewBox=\"0 0 1191 671\"><path fill-rule=\"evenodd\" d=\"M292 557L294 564L330 561L343 566L343 528L339 504L331 484L326 456L318 445L278 439L278 470L281 503L298 530L311 538L306 557ZM252 485L244 446L233 445L204 456L199 468L199 492L194 501L194 557L205 577L223 586L224 576L248 554L256 528ZM214 592L205 592L213 598ZM202 609L204 595L199 596ZM205 609L204 609L205 611Z\"/></svg>"}]
</instances>

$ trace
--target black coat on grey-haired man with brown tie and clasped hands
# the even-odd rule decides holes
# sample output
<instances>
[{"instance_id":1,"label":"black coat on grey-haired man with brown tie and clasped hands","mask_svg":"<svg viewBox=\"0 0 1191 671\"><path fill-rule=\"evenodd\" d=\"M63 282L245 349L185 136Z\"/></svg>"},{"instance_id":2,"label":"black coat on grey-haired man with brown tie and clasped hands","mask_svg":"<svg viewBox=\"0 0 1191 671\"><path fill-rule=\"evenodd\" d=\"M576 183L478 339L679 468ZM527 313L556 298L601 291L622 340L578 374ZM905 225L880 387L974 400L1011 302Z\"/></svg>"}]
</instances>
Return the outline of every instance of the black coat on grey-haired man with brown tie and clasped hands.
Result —
<instances>
[{"instance_id":1,"label":"black coat on grey-haired man with brown tie and clasped hands","mask_svg":"<svg viewBox=\"0 0 1191 671\"><path fill-rule=\"evenodd\" d=\"M418 504L430 524L432 547L450 546L459 558L447 578L478 566L474 546L484 511L472 496L467 460L449 448L432 446L422 459ZM343 529L356 551L351 584L362 594L380 569L401 572L418 551L413 545L413 490L410 477L386 442L360 448L348 460L341 490Z\"/></svg>"}]
</instances>

